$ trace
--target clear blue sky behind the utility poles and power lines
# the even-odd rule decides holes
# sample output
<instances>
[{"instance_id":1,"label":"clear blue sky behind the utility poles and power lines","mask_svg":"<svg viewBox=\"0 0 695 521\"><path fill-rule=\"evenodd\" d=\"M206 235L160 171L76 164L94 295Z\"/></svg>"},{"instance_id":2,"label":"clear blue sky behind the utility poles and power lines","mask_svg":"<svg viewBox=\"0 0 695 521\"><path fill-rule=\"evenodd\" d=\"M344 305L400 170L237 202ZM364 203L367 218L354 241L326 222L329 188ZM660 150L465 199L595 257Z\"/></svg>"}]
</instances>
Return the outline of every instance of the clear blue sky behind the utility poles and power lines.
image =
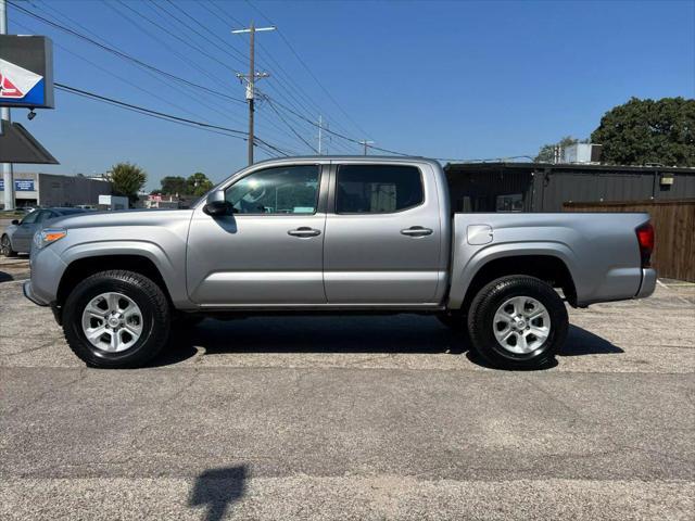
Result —
<instances>
[{"instance_id":1,"label":"clear blue sky behind the utility poles and power lines","mask_svg":"<svg viewBox=\"0 0 695 521\"><path fill-rule=\"evenodd\" d=\"M376 147L477 160L587 138L631 97L695 98L695 1L8 1L216 93L9 5L11 34L53 40L55 81L240 131L249 40L231 29L277 25L256 35L256 66L269 74L257 87L270 99L256 104L256 135L291 153L312 153L318 128L288 109ZM12 117L61 164L15 171L92 175L128 161L154 189L163 176L220 181L247 164L243 140L62 91L37 112ZM324 147L362 153L338 137Z\"/></svg>"}]
</instances>

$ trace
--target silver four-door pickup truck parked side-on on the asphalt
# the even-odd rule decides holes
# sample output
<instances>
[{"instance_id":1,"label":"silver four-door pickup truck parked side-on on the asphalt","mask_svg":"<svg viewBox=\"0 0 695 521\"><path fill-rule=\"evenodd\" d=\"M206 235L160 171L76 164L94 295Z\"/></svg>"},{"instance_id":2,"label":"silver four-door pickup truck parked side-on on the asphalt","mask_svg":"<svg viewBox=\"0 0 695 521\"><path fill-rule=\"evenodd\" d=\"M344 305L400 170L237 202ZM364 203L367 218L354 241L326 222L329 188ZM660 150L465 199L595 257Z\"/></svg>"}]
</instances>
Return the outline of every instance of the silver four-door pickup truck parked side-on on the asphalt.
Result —
<instances>
[{"instance_id":1,"label":"silver four-door pickup truck parked side-on on the asphalt","mask_svg":"<svg viewBox=\"0 0 695 521\"><path fill-rule=\"evenodd\" d=\"M34 238L25 295L87 365L138 367L204 316L418 313L490 364L541 367L565 301L652 294L647 214L458 214L439 163L294 157L250 166L192 209L90 213Z\"/></svg>"}]
</instances>

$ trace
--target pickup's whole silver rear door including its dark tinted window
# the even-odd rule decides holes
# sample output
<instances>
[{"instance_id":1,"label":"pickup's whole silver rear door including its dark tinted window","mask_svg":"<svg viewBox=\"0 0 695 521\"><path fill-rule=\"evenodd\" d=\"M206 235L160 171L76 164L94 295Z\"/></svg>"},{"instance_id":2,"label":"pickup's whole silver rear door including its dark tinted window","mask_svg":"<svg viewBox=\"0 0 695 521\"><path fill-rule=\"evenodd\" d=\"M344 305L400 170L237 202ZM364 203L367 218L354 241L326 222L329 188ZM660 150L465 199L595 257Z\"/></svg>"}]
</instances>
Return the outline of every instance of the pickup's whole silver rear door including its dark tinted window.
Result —
<instances>
[{"instance_id":1,"label":"pickup's whole silver rear door including its dark tinted window","mask_svg":"<svg viewBox=\"0 0 695 521\"><path fill-rule=\"evenodd\" d=\"M403 188L400 177L408 175L405 170L379 171L380 167L366 165L359 171L355 165L341 177L341 168L333 190L336 213L326 219L324 284L328 303L434 302L445 266L440 258L439 203L431 173L418 173L418 200L410 193L413 187L406 186L403 195L399 193ZM366 182L370 177L374 181Z\"/></svg>"}]
</instances>

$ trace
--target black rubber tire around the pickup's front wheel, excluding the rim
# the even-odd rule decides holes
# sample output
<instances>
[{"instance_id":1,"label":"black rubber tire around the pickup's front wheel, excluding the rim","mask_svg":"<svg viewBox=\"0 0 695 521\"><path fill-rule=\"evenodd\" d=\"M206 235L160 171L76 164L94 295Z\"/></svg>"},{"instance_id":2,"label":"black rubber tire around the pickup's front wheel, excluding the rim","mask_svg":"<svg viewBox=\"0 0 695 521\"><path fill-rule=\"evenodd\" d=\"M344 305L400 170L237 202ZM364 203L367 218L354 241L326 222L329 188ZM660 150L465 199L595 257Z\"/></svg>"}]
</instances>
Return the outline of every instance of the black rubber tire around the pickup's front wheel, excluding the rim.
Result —
<instances>
[{"instance_id":1,"label":"black rubber tire around the pickup's front wheel, excluding the rim","mask_svg":"<svg viewBox=\"0 0 695 521\"><path fill-rule=\"evenodd\" d=\"M142 314L142 332L129 348L109 353L92 345L81 326L87 304L101 293L117 292L131 298ZM142 367L164 347L170 326L169 303L162 289L143 275L109 270L83 280L63 306L63 332L73 352L90 367L126 369Z\"/></svg>"}]
</instances>

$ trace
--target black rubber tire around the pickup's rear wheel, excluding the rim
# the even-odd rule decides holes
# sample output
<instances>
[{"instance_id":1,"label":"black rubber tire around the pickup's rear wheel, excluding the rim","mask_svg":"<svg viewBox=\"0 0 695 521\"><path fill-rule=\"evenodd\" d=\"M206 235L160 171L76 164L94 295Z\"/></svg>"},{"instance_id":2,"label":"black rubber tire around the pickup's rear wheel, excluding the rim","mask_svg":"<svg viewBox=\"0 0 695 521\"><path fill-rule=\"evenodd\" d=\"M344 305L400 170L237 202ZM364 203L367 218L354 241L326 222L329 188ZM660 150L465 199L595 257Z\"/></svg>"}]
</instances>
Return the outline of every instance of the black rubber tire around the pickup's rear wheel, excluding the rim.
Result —
<instances>
[{"instance_id":1,"label":"black rubber tire around the pickup's rear wheel, excluding the rim","mask_svg":"<svg viewBox=\"0 0 695 521\"><path fill-rule=\"evenodd\" d=\"M513 353L495 338L495 313L516 296L534 298L549 316L547 338L530 353ZM493 280L478 292L468 310L468 332L473 348L490 365L507 369L539 369L551 365L565 343L568 325L567 309L557 292L542 280L523 275Z\"/></svg>"}]
</instances>

